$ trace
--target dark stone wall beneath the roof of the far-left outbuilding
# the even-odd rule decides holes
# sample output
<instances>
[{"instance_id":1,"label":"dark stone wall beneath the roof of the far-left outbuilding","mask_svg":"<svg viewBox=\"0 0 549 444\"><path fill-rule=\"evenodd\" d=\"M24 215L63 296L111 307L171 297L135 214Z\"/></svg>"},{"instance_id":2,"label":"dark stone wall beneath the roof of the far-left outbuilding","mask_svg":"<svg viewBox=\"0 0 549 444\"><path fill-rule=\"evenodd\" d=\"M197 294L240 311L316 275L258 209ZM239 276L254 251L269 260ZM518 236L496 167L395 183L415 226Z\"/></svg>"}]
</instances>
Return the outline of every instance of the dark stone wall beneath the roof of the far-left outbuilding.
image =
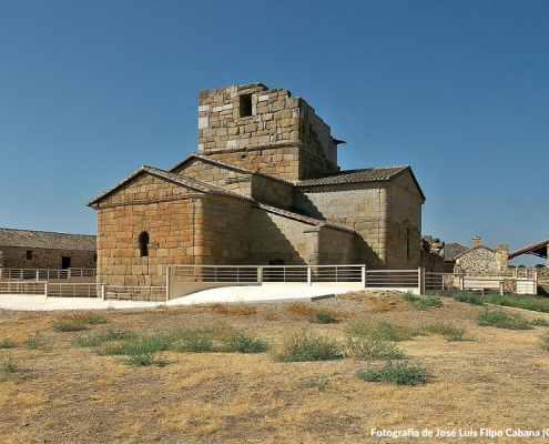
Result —
<instances>
[{"instance_id":1,"label":"dark stone wall beneath the roof of the far-left outbuilding","mask_svg":"<svg viewBox=\"0 0 549 444\"><path fill-rule=\"evenodd\" d=\"M0 246L3 266L7 269L55 269L62 266L62 258L71 258L71 269L94 269L95 251L26 249ZM32 259L27 259L27 251L32 251Z\"/></svg>"}]
</instances>

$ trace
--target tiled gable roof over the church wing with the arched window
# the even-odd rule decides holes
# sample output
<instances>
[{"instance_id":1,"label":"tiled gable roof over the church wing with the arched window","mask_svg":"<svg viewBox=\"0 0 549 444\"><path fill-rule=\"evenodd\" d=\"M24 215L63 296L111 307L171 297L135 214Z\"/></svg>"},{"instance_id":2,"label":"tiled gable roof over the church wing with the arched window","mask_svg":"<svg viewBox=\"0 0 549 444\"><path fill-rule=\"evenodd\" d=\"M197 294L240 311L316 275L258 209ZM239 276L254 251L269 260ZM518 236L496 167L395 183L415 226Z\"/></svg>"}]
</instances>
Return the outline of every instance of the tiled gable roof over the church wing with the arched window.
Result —
<instances>
[{"instance_id":1,"label":"tiled gable roof over the church wing with the arched window","mask_svg":"<svg viewBox=\"0 0 549 444\"><path fill-rule=\"evenodd\" d=\"M173 182L177 185L187 186L187 188L191 188L193 190L202 191L204 193L225 195L227 198L252 201L252 199L248 196L225 190L221 186L212 185L211 183L203 182L203 181L200 181L197 179L190 178L189 175L175 174L175 173L171 173L169 171L160 170L157 168L143 165L138 171L130 174L128 178L123 179L119 183L111 186L105 192L101 193L96 198L93 198L91 201L89 201L87 203L87 205L92 206L92 205L101 202L103 199L108 198L110 194L114 193L116 190L121 189L126 183L131 182L132 180L134 180L135 178L138 178L139 175L144 174L144 173L149 173L149 174L155 175L157 178L162 178L164 180Z\"/></svg>"}]
</instances>

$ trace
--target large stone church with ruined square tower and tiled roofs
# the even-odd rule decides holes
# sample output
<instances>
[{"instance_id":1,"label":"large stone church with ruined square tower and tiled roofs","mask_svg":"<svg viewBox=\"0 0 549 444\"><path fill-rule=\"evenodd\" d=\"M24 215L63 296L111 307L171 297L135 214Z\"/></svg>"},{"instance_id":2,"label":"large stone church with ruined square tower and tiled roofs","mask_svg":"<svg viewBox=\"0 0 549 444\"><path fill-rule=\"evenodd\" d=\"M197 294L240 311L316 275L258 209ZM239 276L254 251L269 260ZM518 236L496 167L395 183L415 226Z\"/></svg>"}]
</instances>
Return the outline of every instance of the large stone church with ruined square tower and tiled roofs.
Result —
<instances>
[{"instance_id":1,"label":"large stone church with ruined square tower and tiled roofs","mask_svg":"<svg viewBox=\"0 0 549 444\"><path fill-rule=\"evenodd\" d=\"M342 171L340 143L287 90L200 91L197 153L88 202L98 280L164 285L167 264L418 266L425 196L410 167Z\"/></svg>"}]
</instances>

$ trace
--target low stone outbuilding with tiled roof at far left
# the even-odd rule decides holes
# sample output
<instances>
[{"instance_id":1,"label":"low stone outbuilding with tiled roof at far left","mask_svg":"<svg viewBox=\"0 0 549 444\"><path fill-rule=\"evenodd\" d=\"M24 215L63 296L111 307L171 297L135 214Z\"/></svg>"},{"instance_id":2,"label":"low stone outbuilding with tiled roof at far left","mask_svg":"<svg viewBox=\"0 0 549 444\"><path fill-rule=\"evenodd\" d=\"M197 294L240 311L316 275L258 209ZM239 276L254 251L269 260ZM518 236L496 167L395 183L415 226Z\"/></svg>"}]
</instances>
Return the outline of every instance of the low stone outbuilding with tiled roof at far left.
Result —
<instances>
[{"instance_id":1,"label":"low stone outbuilding with tiled roof at far left","mask_svg":"<svg viewBox=\"0 0 549 444\"><path fill-rule=\"evenodd\" d=\"M0 228L0 268L94 269L95 236Z\"/></svg>"}]
</instances>

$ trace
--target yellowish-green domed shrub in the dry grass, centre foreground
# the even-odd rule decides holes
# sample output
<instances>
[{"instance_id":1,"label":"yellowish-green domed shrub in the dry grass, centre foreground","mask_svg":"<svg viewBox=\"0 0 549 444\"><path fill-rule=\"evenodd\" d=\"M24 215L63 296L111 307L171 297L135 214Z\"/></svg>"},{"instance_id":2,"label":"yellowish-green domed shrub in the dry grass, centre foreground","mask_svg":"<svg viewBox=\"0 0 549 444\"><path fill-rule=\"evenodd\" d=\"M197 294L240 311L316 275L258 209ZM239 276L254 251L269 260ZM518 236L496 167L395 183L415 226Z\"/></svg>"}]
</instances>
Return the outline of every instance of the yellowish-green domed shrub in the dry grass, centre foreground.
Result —
<instances>
[{"instance_id":1,"label":"yellowish-green domed shrub in the dry grass, centre foreground","mask_svg":"<svg viewBox=\"0 0 549 444\"><path fill-rule=\"evenodd\" d=\"M274 359L278 362L333 361L342 357L337 342L315 336L307 330L288 334L274 351Z\"/></svg>"}]
</instances>

